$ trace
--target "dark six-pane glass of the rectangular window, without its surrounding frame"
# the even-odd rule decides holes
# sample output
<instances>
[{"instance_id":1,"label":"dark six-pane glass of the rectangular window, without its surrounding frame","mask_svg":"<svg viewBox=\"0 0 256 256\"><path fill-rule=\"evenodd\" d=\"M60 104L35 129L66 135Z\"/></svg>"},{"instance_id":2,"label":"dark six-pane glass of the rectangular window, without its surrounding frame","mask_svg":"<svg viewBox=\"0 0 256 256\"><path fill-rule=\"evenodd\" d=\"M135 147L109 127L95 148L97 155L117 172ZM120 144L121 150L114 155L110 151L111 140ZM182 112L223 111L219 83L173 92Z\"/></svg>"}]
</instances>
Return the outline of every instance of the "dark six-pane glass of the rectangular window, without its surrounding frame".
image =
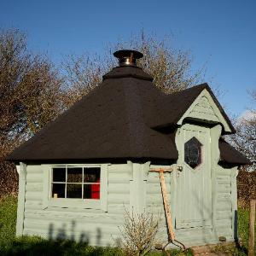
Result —
<instances>
[{"instance_id":1,"label":"dark six-pane glass of the rectangular window, without its surrounding frame","mask_svg":"<svg viewBox=\"0 0 256 256\"><path fill-rule=\"evenodd\" d=\"M51 197L54 199L100 200L101 168L56 166L52 168Z\"/></svg>"}]
</instances>

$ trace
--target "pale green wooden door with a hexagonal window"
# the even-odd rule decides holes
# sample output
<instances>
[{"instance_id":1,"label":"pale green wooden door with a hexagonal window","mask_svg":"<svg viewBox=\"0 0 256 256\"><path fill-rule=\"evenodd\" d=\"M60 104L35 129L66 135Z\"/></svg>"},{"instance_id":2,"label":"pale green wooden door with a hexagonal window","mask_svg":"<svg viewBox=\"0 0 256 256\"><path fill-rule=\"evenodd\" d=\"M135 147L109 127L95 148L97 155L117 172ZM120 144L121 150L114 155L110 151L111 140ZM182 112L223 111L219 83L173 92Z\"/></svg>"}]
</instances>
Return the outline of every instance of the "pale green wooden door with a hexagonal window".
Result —
<instances>
[{"instance_id":1,"label":"pale green wooden door with a hexagonal window","mask_svg":"<svg viewBox=\"0 0 256 256\"><path fill-rule=\"evenodd\" d=\"M210 130L199 125L183 125L177 131L176 228L212 224Z\"/></svg>"}]
</instances>

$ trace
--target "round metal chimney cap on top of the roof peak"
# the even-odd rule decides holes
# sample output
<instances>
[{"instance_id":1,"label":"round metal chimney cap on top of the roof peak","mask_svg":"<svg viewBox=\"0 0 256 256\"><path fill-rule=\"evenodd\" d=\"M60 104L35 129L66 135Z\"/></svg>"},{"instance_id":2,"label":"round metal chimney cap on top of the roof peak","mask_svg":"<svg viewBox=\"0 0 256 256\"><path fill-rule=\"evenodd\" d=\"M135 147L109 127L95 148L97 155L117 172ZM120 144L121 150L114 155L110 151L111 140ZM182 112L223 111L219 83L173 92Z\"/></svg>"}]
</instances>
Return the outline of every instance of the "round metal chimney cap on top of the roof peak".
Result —
<instances>
[{"instance_id":1,"label":"round metal chimney cap on top of the roof peak","mask_svg":"<svg viewBox=\"0 0 256 256\"><path fill-rule=\"evenodd\" d=\"M143 54L137 50L120 49L115 51L113 55L119 59L119 67L137 66L137 60L143 57Z\"/></svg>"}]
</instances>

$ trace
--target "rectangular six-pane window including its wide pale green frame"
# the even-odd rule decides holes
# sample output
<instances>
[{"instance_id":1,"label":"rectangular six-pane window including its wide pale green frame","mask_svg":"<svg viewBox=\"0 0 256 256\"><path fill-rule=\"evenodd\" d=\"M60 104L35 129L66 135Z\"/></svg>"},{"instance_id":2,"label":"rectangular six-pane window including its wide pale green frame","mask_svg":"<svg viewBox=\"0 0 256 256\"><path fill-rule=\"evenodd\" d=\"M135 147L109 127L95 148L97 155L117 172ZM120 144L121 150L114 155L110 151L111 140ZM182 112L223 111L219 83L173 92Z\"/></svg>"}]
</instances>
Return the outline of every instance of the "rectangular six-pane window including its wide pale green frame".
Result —
<instances>
[{"instance_id":1,"label":"rectangular six-pane window including its wide pale green frame","mask_svg":"<svg viewBox=\"0 0 256 256\"><path fill-rule=\"evenodd\" d=\"M81 208L108 212L110 164L42 165L42 208Z\"/></svg>"}]
</instances>

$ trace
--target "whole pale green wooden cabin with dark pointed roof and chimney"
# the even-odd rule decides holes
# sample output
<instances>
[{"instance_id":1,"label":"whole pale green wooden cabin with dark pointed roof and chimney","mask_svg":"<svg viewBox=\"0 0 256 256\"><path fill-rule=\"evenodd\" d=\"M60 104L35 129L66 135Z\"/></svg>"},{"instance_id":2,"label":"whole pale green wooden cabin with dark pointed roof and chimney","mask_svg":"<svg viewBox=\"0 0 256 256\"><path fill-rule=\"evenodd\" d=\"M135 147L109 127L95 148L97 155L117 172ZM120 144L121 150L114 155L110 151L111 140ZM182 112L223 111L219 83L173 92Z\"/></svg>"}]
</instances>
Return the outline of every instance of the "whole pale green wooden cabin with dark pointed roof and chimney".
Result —
<instances>
[{"instance_id":1,"label":"whole pale green wooden cabin with dark pointed roof and chimney","mask_svg":"<svg viewBox=\"0 0 256 256\"><path fill-rule=\"evenodd\" d=\"M187 247L237 237L236 176L247 158L223 139L235 132L212 90L166 95L121 50L102 84L9 155L20 175L16 234L113 246L124 209L163 214Z\"/></svg>"}]
</instances>

